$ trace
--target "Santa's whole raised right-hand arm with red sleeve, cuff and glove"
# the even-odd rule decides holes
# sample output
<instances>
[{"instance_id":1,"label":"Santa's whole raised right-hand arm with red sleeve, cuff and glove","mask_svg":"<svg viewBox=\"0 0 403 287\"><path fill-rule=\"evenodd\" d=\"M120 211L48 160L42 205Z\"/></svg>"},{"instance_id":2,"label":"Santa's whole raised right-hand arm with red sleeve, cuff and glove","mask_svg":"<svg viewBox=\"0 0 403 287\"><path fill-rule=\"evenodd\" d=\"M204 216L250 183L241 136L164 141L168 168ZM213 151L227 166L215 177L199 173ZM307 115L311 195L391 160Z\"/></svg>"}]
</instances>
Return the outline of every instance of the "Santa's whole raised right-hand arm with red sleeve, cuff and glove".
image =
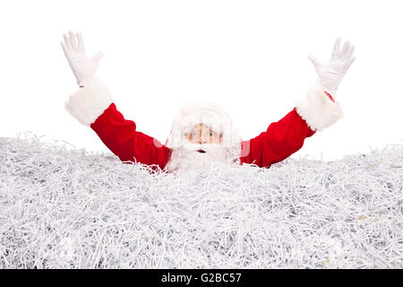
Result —
<instances>
[{"instance_id":1,"label":"Santa's whole raised right-hand arm with red sleeve, cuff and glove","mask_svg":"<svg viewBox=\"0 0 403 287\"><path fill-rule=\"evenodd\" d=\"M329 63L322 64L316 57L310 56L319 80L296 100L295 109L286 117L271 123L261 135L242 143L241 162L269 168L300 150L305 138L343 117L334 96L341 79L355 60L353 53L354 46L347 41L340 49L340 39L337 39Z\"/></svg>"}]
</instances>

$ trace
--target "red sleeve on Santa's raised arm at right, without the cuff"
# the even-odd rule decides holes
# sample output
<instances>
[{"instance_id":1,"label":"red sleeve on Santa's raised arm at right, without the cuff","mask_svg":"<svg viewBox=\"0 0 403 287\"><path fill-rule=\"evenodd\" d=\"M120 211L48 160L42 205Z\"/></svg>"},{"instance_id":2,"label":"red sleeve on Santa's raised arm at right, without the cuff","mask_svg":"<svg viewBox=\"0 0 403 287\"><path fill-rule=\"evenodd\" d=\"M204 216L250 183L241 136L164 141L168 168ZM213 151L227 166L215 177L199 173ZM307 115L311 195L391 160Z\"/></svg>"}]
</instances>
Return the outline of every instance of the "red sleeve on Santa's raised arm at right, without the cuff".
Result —
<instances>
[{"instance_id":1,"label":"red sleeve on Santa's raised arm at right, without the cuff","mask_svg":"<svg viewBox=\"0 0 403 287\"><path fill-rule=\"evenodd\" d=\"M304 139L314 133L293 109L286 117L271 123L266 132L242 143L241 164L254 163L269 168L301 149Z\"/></svg>"}]
</instances>

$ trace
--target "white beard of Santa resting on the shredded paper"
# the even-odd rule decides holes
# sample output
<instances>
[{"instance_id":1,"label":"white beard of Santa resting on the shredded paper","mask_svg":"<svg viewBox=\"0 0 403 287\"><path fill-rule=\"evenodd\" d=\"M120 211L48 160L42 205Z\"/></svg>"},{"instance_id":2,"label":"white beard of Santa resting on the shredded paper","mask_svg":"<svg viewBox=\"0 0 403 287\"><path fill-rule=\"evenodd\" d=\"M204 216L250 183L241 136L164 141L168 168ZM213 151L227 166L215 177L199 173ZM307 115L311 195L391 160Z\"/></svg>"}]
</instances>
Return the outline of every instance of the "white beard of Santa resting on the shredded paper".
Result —
<instances>
[{"instance_id":1,"label":"white beard of Santa resting on the shredded paper","mask_svg":"<svg viewBox=\"0 0 403 287\"><path fill-rule=\"evenodd\" d=\"M203 150L203 152L197 152ZM167 163L168 171L201 169L217 162L231 162L229 150L221 143L190 143L185 140L180 149L172 152Z\"/></svg>"}]
</instances>

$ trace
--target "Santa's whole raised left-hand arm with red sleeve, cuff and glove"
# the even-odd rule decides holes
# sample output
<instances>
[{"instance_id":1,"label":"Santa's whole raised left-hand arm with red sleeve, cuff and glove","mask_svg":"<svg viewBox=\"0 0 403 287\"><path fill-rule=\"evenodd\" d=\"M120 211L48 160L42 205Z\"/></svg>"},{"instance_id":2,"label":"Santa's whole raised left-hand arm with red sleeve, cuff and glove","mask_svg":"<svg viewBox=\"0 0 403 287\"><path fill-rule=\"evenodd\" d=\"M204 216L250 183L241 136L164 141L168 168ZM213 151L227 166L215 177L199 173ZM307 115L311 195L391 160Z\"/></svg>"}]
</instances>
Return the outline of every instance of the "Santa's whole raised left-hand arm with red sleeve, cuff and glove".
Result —
<instances>
[{"instance_id":1,"label":"Santa's whole raised left-hand arm with red sleeve, cuff and glove","mask_svg":"<svg viewBox=\"0 0 403 287\"><path fill-rule=\"evenodd\" d=\"M65 109L82 125L90 126L103 143L121 161L137 161L163 170L171 150L155 138L136 130L132 120L116 109L105 83L94 78L101 54L89 59L85 55L81 34L70 32L62 42L64 54L81 89L65 102Z\"/></svg>"}]
</instances>

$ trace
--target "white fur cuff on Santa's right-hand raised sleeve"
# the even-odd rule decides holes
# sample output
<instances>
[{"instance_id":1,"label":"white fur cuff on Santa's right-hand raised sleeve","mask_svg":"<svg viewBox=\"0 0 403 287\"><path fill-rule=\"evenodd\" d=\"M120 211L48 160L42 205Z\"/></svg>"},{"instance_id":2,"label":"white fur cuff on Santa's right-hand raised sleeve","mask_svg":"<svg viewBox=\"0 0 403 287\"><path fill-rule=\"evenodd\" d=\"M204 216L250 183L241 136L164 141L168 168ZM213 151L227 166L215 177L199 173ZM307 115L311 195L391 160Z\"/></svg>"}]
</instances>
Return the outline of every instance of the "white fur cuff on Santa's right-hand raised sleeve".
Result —
<instances>
[{"instance_id":1,"label":"white fur cuff on Santa's right-hand raised sleeve","mask_svg":"<svg viewBox=\"0 0 403 287\"><path fill-rule=\"evenodd\" d=\"M304 97L296 100L296 112L313 131L322 131L343 117L339 102L330 100L324 91L322 84L316 82Z\"/></svg>"}]
</instances>

